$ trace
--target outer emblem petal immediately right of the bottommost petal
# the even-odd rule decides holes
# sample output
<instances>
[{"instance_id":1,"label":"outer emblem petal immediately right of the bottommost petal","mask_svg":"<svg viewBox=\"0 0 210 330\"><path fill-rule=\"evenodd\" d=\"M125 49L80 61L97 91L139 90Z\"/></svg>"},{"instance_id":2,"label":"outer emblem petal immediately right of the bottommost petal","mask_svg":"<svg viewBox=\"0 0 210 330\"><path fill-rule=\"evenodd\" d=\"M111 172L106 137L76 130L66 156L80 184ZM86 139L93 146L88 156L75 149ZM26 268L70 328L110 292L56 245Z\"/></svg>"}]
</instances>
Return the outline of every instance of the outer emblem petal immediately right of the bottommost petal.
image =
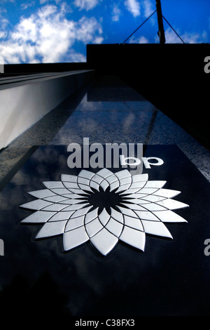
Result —
<instances>
[{"instance_id":1,"label":"outer emblem petal immediately right of the bottommost petal","mask_svg":"<svg viewBox=\"0 0 210 330\"><path fill-rule=\"evenodd\" d=\"M139 230L135 230L131 227L125 226L119 239L141 251L144 251L145 232L141 232Z\"/></svg>"}]
</instances>

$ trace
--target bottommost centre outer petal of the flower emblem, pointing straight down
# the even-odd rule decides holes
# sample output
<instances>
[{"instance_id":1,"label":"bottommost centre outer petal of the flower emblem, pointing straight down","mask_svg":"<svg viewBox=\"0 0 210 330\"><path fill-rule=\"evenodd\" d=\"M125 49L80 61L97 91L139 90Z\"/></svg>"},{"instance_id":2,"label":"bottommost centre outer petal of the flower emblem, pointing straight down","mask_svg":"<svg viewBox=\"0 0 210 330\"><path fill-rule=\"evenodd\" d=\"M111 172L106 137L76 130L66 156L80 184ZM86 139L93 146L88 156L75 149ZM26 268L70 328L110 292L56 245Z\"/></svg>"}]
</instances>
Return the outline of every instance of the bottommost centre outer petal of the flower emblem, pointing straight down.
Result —
<instances>
[{"instance_id":1,"label":"bottommost centre outer petal of the flower emblem, pointing straight down","mask_svg":"<svg viewBox=\"0 0 210 330\"><path fill-rule=\"evenodd\" d=\"M106 256L116 246L118 238L104 228L97 235L91 237L90 242L100 253Z\"/></svg>"}]
</instances>

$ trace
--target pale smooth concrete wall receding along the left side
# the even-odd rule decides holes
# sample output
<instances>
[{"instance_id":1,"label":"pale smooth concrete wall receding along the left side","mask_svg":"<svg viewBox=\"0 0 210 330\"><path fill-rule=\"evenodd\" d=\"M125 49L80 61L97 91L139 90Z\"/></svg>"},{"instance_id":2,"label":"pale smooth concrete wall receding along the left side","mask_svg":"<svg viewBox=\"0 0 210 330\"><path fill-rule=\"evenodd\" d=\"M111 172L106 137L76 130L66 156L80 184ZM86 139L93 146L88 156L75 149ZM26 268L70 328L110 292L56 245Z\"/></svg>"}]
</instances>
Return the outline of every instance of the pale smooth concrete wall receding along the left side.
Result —
<instances>
[{"instance_id":1,"label":"pale smooth concrete wall receding along the left side","mask_svg":"<svg viewBox=\"0 0 210 330\"><path fill-rule=\"evenodd\" d=\"M0 150L92 78L80 70L0 86Z\"/></svg>"}]
</instances>

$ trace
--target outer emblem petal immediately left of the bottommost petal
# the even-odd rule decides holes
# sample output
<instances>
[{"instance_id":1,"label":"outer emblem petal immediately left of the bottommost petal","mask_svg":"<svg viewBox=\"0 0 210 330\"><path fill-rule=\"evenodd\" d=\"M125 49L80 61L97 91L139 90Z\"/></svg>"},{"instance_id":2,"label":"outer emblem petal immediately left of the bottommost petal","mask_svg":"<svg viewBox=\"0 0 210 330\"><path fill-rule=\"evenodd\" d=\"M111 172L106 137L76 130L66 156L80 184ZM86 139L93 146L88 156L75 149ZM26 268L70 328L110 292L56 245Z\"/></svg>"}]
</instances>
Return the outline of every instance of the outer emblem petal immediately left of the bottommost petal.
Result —
<instances>
[{"instance_id":1,"label":"outer emblem petal immediately left of the bottommost petal","mask_svg":"<svg viewBox=\"0 0 210 330\"><path fill-rule=\"evenodd\" d=\"M85 228L78 227L75 230L69 230L69 232L64 232L63 235L63 247L64 251L73 249L74 247L83 244L89 240Z\"/></svg>"}]
</instances>

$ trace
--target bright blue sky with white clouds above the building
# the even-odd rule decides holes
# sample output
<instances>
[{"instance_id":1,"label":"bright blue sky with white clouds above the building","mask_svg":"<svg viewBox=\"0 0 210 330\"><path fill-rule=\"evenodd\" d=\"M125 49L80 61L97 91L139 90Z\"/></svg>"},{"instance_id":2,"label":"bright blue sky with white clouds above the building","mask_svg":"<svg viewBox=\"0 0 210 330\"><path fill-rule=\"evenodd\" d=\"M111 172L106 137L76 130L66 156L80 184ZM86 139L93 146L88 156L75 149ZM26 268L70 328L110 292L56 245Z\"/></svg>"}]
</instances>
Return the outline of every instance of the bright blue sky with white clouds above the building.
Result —
<instances>
[{"instance_id":1,"label":"bright blue sky with white clouds above the building","mask_svg":"<svg viewBox=\"0 0 210 330\"><path fill-rule=\"evenodd\" d=\"M209 43L209 0L162 0L186 44ZM121 44L155 11L155 0L0 0L0 62L85 62L86 44ZM167 43L181 40L164 22ZM155 13L127 43L158 43Z\"/></svg>"}]
</instances>

